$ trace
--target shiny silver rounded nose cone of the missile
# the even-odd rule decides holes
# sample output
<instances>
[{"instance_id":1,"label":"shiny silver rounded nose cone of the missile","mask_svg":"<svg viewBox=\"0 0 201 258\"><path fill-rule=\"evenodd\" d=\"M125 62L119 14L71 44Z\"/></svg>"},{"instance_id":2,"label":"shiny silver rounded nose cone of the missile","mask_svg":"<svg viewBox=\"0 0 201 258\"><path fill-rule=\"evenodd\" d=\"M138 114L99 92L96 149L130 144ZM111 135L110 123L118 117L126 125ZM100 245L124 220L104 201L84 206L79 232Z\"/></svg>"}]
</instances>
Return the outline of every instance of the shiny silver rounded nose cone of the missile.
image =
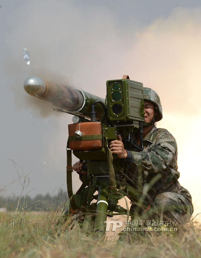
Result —
<instances>
[{"instance_id":1,"label":"shiny silver rounded nose cone of the missile","mask_svg":"<svg viewBox=\"0 0 201 258\"><path fill-rule=\"evenodd\" d=\"M24 81L24 89L31 96L42 96L47 91L47 84L40 77L30 76Z\"/></svg>"}]
</instances>

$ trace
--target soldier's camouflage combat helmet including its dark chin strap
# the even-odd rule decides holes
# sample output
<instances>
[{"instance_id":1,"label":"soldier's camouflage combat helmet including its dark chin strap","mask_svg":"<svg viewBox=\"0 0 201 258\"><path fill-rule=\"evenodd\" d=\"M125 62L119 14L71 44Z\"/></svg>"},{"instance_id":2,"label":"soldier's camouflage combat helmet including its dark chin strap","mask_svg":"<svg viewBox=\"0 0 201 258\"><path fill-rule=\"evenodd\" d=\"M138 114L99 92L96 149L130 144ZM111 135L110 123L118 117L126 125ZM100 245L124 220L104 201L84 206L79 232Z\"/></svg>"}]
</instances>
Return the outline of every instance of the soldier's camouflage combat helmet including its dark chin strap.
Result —
<instances>
[{"instance_id":1,"label":"soldier's camouflage combat helmet including its dark chin strap","mask_svg":"<svg viewBox=\"0 0 201 258\"><path fill-rule=\"evenodd\" d=\"M163 118L163 113L162 113L161 101L156 91L147 87L144 87L143 89L144 89L144 99L154 103L154 107L157 110L156 114L154 114L154 117L150 123L146 123L146 122L143 123L143 127L147 127L147 126L150 126L151 124L154 124L155 122L160 121Z\"/></svg>"}]
</instances>

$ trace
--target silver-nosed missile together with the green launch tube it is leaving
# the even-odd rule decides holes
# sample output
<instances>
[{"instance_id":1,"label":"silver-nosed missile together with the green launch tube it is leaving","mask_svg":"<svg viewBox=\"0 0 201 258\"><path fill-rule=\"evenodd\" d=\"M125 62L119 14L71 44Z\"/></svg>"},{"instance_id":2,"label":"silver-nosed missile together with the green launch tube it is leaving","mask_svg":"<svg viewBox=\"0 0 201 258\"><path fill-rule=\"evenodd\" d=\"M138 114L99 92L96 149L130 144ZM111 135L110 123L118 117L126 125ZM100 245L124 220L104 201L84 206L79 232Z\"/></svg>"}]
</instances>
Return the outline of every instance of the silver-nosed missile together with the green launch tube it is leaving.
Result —
<instances>
[{"instance_id":1,"label":"silver-nosed missile together with the green launch tube it is leaving","mask_svg":"<svg viewBox=\"0 0 201 258\"><path fill-rule=\"evenodd\" d=\"M105 99L97 97L81 89L67 85L58 85L37 76L28 77L24 81L25 91L34 97L44 99L53 105L62 108L72 115L90 119L91 105L99 100L105 104ZM100 120L103 108L98 103L95 107L96 119Z\"/></svg>"}]
</instances>

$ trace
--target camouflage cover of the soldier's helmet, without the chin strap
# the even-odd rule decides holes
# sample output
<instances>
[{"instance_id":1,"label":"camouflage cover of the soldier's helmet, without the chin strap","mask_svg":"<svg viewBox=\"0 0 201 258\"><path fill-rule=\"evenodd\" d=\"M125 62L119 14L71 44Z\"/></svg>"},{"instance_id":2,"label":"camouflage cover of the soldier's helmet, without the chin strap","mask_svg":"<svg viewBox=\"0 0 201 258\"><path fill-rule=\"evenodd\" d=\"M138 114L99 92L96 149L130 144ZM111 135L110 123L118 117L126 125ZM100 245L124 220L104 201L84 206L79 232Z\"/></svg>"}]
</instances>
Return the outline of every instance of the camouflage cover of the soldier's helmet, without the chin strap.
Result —
<instances>
[{"instance_id":1,"label":"camouflage cover of the soldier's helmet, without the chin strap","mask_svg":"<svg viewBox=\"0 0 201 258\"><path fill-rule=\"evenodd\" d=\"M159 95L156 93L156 91L147 87L143 88L143 93L144 99L153 102L158 107L158 114L155 117L155 122L160 121L163 118L163 111Z\"/></svg>"}]
</instances>

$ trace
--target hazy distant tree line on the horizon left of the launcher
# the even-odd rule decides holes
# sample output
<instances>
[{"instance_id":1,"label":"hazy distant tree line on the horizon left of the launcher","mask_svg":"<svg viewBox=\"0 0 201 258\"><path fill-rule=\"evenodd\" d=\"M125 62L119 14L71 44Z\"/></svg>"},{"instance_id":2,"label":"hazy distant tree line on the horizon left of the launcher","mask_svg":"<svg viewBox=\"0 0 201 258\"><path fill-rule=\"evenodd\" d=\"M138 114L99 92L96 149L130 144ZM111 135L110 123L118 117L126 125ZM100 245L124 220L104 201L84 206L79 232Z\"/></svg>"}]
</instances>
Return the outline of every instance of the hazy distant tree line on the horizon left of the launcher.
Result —
<instances>
[{"instance_id":1,"label":"hazy distant tree line on the horizon left of the launcher","mask_svg":"<svg viewBox=\"0 0 201 258\"><path fill-rule=\"evenodd\" d=\"M20 198L20 200L19 200ZM19 204L18 204L19 202ZM30 196L0 196L0 208L7 210L56 210L68 206L69 199L66 191L59 190L58 194L37 194L34 198Z\"/></svg>"}]
</instances>

